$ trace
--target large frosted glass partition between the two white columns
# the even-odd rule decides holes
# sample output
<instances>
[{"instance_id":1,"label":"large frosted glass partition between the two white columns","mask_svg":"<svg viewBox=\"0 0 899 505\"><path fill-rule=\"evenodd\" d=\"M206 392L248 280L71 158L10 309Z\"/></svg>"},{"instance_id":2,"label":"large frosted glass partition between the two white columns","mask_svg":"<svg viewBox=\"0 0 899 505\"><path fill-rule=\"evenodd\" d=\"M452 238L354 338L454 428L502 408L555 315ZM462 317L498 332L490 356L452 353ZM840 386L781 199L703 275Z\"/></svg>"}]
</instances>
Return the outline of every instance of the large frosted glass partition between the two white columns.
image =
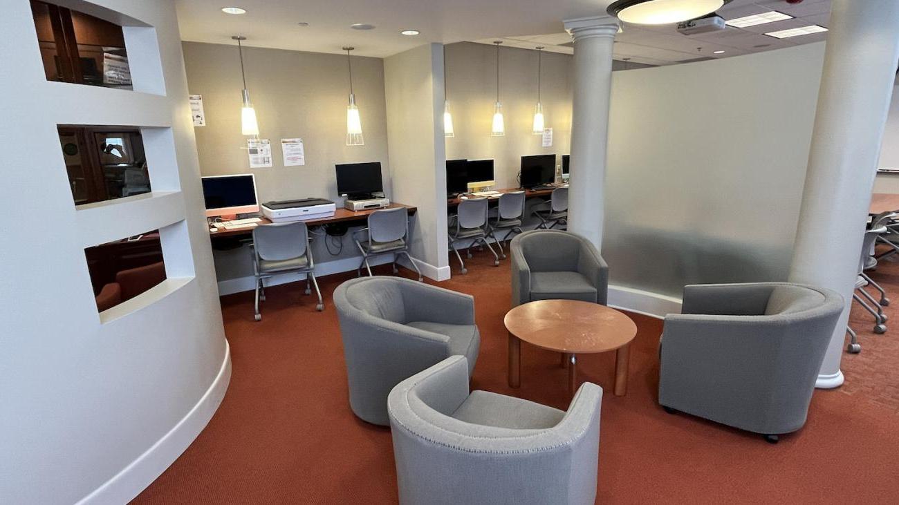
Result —
<instances>
[{"instance_id":1,"label":"large frosted glass partition between the two white columns","mask_svg":"<svg viewBox=\"0 0 899 505\"><path fill-rule=\"evenodd\" d=\"M819 43L613 74L611 284L787 278L822 62Z\"/></svg>"}]
</instances>

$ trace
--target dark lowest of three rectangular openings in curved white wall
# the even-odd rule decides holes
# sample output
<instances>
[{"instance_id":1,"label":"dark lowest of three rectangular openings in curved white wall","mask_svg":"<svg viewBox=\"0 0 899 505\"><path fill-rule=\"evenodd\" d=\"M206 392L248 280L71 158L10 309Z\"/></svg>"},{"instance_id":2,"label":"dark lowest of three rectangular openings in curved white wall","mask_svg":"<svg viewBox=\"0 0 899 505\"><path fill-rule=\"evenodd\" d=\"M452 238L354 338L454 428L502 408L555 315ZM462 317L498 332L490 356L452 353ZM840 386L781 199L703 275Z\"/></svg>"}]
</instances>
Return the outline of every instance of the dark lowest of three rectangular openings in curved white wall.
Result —
<instances>
[{"instance_id":1,"label":"dark lowest of three rectangular openings in curved white wall","mask_svg":"<svg viewBox=\"0 0 899 505\"><path fill-rule=\"evenodd\" d=\"M166 279L159 231L85 249L97 311L102 312Z\"/></svg>"}]
</instances>

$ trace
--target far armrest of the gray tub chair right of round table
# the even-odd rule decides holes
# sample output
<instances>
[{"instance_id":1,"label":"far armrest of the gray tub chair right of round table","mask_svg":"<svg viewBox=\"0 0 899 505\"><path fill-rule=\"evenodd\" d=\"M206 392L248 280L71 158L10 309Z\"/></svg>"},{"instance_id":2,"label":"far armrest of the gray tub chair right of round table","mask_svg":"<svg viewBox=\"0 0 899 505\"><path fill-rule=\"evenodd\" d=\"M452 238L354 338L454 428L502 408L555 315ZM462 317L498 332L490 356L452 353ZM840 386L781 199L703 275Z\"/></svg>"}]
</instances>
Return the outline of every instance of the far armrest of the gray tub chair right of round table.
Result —
<instances>
[{"instance_id":1,"label":"far armrest of the gray tub chair right of round table","mask_svg":"<svg viewBox=\"0 0 899 505\"><path fill-rule=\"evenodd\" d=\"M775 286L770 282L685 286L681 314L761 315Z\"/></svg>"}]
</instances>

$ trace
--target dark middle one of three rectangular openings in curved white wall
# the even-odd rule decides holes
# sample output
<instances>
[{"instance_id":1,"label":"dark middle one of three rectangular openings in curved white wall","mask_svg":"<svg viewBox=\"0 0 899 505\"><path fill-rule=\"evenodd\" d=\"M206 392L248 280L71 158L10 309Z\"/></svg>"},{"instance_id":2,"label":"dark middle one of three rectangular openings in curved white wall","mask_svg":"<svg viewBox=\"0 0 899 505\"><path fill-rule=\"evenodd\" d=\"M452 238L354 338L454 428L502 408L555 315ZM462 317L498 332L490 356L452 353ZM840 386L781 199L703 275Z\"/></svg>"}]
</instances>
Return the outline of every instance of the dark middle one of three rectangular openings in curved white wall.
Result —
<instances>
[{"instance_id":1,"label":"dark middle one of three rectangular openings in curved white wall","mask_svg":"<svg viewBox=\"0 0 899 505\"><path fill-rule=\"evenodd\" d=\"M76 205L150 191L147 155L138 128L61 125L58 131Z\"/></svg>"}]
</instances>

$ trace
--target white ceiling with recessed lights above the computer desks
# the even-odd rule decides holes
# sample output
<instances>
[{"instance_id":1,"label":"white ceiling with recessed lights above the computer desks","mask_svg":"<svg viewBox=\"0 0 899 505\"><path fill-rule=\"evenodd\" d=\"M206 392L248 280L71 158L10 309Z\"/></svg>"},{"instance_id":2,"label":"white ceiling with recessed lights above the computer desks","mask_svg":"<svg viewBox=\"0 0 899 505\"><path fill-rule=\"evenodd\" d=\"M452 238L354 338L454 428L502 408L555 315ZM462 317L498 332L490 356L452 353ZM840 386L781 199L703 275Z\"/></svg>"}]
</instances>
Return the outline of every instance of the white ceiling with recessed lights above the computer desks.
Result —
<instances>
[{"instance_id":1,"label":"white ceiling with recessed lights above the computer desks","mask_svg":"<svg viewBox=\"0 0 899 505\"><path fill-rule=\"evenodd\" d=\"M571 53L562 20L601 15L611 0L176 0L183 40L233 44L231 35L247 37L246 45L340 53L351 45L354 54L383 58L426 42L463 40L524 49ZM809 24L826 27L831 0L734 0L718 13L725 19L776 10L795 19L738 29L684 36L675 25L632 25L616 37L616 59L649 65L672 65L695 58L727 58L824 40L827 33L775 39L766 31ZM245 14L226 14L223 6L239 6ZM300 27L299 22L308 22ZM370 23L371 31L352 30L353 23ZM399 32L421 31L407 37ZM568 45L566 45L568 44ZM713 51L723 50L715 55Z\"/></svg>"}]
</instances>

